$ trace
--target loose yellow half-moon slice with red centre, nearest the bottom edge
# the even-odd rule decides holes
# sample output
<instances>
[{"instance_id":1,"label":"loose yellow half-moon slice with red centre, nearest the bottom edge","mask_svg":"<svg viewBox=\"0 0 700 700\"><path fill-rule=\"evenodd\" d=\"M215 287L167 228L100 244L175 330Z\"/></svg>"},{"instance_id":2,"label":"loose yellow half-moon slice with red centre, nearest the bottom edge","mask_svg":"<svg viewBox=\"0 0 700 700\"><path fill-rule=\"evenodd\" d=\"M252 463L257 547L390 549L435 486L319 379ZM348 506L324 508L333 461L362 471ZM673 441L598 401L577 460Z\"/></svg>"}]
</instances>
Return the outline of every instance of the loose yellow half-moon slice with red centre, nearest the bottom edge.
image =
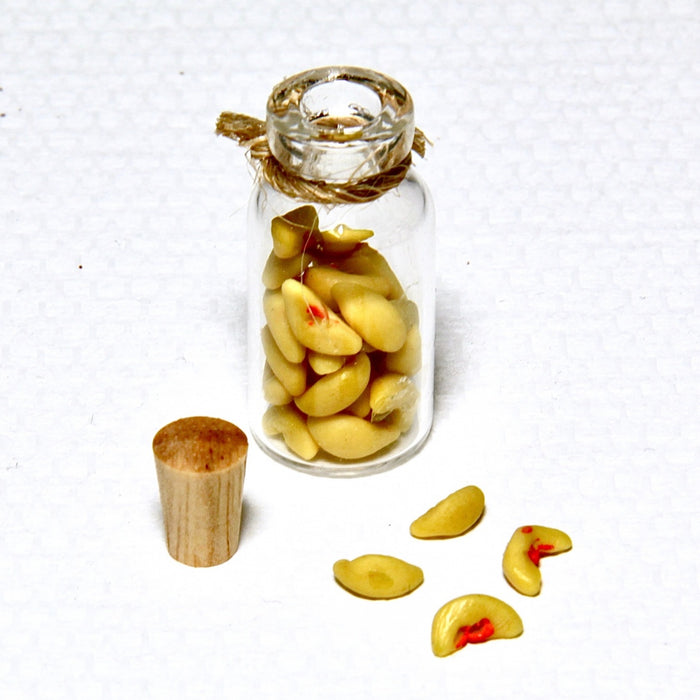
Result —
<instances>
[{"instance_id":1,"label":"loose yellow half-moon slice with red centre, nearest the bottom edge","mask_svg":"<svg viewBox=\"0 0 700 700\"><path fill-rule=\"evenodd\" d=\"M431 641L435 656L449 656L468 644L511 639L523 633L523 622L499 598L481 593L445 603L433 618Z\"/></svg>"}]
</instances>

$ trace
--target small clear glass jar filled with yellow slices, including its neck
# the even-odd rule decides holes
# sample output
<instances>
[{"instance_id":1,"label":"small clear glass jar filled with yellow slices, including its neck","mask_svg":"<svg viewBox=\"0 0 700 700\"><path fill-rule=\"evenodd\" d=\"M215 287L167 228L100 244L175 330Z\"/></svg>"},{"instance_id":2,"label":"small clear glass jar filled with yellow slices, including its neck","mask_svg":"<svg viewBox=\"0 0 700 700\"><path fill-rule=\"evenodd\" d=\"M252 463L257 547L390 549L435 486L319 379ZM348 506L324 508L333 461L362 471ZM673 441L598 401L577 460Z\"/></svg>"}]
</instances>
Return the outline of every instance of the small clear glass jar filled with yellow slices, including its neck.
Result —
<instances>
[{"instance_id":1,"label":"small clear glass jar filled with yellow slices, including its neck","mask_svg":"<svg viewBox=\"0 0 700 700\"><path fill-rule=\"evenodd\" d=\"M248 212L250 429L280 462L352 476L405 461L433 414L434 212L393 79L329 67L267 104L273 172Z\"/></svg>"}]
</instances>

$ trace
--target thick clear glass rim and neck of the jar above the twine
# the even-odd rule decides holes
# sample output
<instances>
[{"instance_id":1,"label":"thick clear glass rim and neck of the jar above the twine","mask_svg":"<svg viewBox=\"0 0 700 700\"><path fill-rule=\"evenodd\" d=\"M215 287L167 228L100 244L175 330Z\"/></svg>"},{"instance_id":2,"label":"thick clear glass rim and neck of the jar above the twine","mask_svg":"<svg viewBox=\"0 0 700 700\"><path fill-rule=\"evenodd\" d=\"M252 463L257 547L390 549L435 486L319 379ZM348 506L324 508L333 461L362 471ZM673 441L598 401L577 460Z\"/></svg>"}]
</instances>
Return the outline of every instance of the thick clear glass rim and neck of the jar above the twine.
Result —
<instances>
[{"instance_id":1,"label":"thick clear glass rim and neck of the jar above the twine","mask_svg":"<svg viewBox=\"0 0 700 700\"><path fill-rule=\"evenodd\" d=\"M268 99L272 154L307 179L349 182L387 170L410 153L413 134L410 94L365 68L299 73Z\"/></svg>"}]
</instances>

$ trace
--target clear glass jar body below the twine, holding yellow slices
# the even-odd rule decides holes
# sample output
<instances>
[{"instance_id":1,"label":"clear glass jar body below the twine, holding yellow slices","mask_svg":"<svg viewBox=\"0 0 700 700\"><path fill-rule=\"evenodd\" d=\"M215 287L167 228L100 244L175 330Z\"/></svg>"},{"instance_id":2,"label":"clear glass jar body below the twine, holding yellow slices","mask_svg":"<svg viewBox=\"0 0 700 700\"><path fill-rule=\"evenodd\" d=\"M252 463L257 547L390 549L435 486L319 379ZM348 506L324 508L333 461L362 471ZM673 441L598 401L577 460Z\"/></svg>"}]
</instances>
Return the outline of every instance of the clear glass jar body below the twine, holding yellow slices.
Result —
<instances>
[{"instance_id":1,"label":"clear glass jar body below the twine, holding yellow slices","mask_svg":"<svg viewBox=\"0 0 700 700\"><path fill-rule=\"evenodd\" d=\"M361 203L304 202L255 185L248 405L267 454L353 476L420 448L433 414L434 248L432 199L413 168Z\"/></svg>"}]
</instances>

